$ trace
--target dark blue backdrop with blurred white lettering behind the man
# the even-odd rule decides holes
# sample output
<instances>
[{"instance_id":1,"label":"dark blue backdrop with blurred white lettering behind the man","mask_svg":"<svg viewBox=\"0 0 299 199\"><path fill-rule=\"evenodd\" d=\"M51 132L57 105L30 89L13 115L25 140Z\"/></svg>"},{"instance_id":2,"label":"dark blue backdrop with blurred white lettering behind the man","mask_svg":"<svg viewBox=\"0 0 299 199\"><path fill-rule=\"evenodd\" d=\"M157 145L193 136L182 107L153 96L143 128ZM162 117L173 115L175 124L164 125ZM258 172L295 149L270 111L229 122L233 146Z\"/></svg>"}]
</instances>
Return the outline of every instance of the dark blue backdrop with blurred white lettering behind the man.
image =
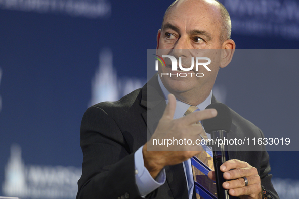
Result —
<instances>
[{"instance_id":1,"label":"dark blue backdrop with blurred white lettering behind the man","mask_svg":"<svg viewBox=\"0 0 299 199\"><path fill-rule=\"evenodd\" d=\"M298 48L297 1L221 2L231 14L237 48ZM0 196L75 197L83 113L146 82L147 49L156 47L171 3L0 0ZM254 78L248 74L256 71L241 66L222 71L216 85L228 106L265 132L283 133L287 126L296 133L298 67ZM277 120L269 119L275 114ZM292 169L298 151L269 154L281 198L299 198L299 171Z\"/></svg>"}]
</instances>

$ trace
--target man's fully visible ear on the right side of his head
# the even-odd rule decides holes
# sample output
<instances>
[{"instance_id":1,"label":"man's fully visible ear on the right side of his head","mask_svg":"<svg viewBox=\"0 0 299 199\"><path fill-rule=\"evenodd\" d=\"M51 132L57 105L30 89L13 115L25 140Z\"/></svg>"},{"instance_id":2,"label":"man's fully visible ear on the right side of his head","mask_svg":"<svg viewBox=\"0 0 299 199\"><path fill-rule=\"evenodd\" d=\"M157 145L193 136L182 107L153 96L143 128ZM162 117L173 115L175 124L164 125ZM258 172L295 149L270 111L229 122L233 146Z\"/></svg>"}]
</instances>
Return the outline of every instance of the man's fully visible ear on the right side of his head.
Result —
<instances>
[{"instance_id":1,"label":"man's fully visible ear on the right side of his head","mask_svg":"<svg viewBox=\"0 0 299 199\"><path fill-rule=\"evenodd\" d=\"M235 49L236 49L236 44L232 39L228 39L222 44L222 49L221 49L222 58L220 62L221 68L226 67L232 61Z\"/></svg>"}]
</instances>

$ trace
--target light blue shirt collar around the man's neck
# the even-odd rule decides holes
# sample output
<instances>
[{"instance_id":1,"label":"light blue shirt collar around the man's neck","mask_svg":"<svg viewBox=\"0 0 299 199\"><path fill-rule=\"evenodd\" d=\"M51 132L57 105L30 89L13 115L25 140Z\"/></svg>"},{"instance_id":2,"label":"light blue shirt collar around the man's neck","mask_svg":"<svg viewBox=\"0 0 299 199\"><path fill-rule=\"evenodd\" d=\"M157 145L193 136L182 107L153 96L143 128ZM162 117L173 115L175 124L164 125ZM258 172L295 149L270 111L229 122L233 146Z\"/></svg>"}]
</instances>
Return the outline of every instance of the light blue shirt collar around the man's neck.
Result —
<instances>
[{"instance_id":1,"label":"light blue shirt collar around the man's neck","mask_svg":"<svg viewBox=\"0 0 299 199\"><path fill-rule=\"evenodd\" d=\"M165 101L168 104L168 94L170 94L170 92L163 85L159 75L158 75L158 81L159 81L159 85L162 89L162 92L164 94ZM208 105L211 104L211 100L212 100L212 91L210 92L209 96L202 103L197 105L196 107L199 108L200 110L204 110ZM176 106L174 119L178 119L178 118L183 117L183 115L185 114L185 112L187 111L187 109L189 107L190 107L190 105L188 105L188 104L186 104L182 101L177 100L177 106Z\"/></svg>"}]
</instances>

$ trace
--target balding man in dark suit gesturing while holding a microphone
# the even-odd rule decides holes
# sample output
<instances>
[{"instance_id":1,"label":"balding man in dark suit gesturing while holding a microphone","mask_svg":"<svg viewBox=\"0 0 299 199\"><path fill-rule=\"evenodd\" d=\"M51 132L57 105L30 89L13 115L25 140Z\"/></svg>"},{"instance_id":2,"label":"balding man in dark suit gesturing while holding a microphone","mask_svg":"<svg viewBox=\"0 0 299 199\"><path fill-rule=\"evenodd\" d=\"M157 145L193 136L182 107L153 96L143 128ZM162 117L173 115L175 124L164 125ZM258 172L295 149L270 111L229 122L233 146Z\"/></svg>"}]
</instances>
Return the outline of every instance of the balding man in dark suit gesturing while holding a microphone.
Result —
<instances>
[{"instance_id":1,"label":"balding man in dark suit gesturing while holding a microphone","mask_svg":"<svg viewBox=\"0 0 299 199\"><path fill-rule=\"evenodd\" d=\"M84 159L77 198L194 198L188 165L190 158L201 151L149 151L147 129L152 132L151 139L165 134L198 136L204 131L194 123L217 115L216 110L204 109L216 102L211 89L218 70L227 66L233 56L235 43L230 39L230 29L228 13L216 1L179 0L170 5L158 31L157 49L170 49L176 57L186 56L180 49L228 51L215 56L218 65L213 65L204 78L161 78L161 73L170 69L159 67L159 77L155 75L143 88L117 102L90 107L81 124ZM201 107L203 111L174 119L178 104ZM246 132L263 137L252 123L231 112L235 124L232 135L242 136ZM149 124L149 117L156 122ZM230 180L223 187L231 196L262 198L263 185L273 198L278 198L268 174L269 156L263 148L232 151L230 158L233 159L225 162L221 170L224 178ZM209 172L208 177L215 180L215 173Z\"/></svg>"}]
</instances>

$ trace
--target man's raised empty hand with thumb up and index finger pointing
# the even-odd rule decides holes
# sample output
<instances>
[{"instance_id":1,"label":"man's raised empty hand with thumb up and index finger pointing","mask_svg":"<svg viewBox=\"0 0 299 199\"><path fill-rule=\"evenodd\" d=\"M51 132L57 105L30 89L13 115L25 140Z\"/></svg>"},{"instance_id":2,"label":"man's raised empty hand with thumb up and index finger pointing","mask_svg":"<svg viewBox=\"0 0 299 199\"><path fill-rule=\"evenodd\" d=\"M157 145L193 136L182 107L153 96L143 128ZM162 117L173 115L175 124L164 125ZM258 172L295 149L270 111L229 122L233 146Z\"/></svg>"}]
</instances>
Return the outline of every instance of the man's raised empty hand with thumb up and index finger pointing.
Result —
<instances>
[{"instance_id":1,"label":"man's raised empty hand with thumb up and index finger pointing","mask_svg":"<svg viewBox=\"0 0 299 199\"><path fill-rule=\"evenodd\" d=\"M179 164L188 160L192 156L199 154L202 150L200 145L196 145L195 140L201 139L200 134L203 130L197 121L209 119L217 115L215 109L205 109L190 113L185 117L173 119L176 110L176 97L168 95L168 104L164 114L151 139L143 147L144 166L148 169L151 176L155 178L161 169L166 165ZM172 144L154 145L153 140L192 140L192 144ZM166 142L167 143L167 142ZM189 142L190 143L190 142ZM151 150L148 150L150 148ZM155 150L155 151L153 151Z\"/></svg>"}]
</instances>

